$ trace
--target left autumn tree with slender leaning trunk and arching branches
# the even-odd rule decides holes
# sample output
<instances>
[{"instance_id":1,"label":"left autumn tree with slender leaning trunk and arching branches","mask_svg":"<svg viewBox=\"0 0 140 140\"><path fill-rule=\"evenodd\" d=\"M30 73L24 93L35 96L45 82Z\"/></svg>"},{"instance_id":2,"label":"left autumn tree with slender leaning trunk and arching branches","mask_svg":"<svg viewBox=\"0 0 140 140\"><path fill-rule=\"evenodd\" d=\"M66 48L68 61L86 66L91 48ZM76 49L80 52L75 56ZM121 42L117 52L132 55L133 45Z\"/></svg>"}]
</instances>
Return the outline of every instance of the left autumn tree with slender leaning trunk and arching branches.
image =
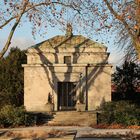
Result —
<instances>
[{"instance_id":1,"label":"left autumn tree with slender leaning trunk and arching branches","mask_svg":"<svg viewBox=\"0 0 140 140\"><path fill-rule=\"evenodd\" d=\"M0 58L8 50L12 37L20 24L29 20L32 26L32 34L42 27L54 26L58 22L64 24L66 8L78 11L78 6L60 0L3 0L0 3L0 30L7 25L11 25L10 33L6 43L0 52Z\"/></svg>"}]
</instances>

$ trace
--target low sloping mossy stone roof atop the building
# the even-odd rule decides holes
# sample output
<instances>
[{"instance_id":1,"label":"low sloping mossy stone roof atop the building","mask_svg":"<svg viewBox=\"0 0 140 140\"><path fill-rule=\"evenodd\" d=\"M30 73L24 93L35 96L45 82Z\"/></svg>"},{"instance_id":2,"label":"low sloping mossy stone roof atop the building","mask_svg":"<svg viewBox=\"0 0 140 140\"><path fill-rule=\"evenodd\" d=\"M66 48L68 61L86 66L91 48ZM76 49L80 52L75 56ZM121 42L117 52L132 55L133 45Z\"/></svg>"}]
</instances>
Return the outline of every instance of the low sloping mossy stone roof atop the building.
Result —
<instances>
[{"instance_id":1,"label":"low sloping mossy stone roof atop the building","mask_svg":"<svg viewBox=\"0 0 140 140\"><path fill-rule=\"evenodd\" d=\"M79 47L105 47L104 45L97 43L93 40L90 40L82 35L72 35L72 36L55 36L50 38L46 41L43 41L39 44L31 46L30 48L54 48L57 49L58 47L72 47L72 48L79 48ZM105 47L106 48L106 47Z\"/></svg>"}]
</instances>

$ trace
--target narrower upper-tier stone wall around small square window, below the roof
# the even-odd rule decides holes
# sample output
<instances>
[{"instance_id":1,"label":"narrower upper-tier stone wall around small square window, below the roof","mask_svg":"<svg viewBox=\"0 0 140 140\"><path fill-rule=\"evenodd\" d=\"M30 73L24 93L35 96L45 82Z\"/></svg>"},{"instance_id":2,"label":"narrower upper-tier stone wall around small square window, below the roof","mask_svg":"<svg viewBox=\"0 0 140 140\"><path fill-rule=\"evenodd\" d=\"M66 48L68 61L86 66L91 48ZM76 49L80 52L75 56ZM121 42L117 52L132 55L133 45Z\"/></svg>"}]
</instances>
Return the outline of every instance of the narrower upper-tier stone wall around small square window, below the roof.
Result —
<instances>
[{"instance_id":1,"label":"narrower upper-tier stone wall around small square window, below the roof","mask_svg":"<svg viewBox=\"0 0 140 140\"><path fill-rule=\"evenodd\" d=\"M55 49L29 49L27 53L28 64L63 64L64 56L71 56L72 63L105 63L109 54L106 48L59 48ZM86 59L85 59L86 57Z\"/></svg>"}]
</instances>

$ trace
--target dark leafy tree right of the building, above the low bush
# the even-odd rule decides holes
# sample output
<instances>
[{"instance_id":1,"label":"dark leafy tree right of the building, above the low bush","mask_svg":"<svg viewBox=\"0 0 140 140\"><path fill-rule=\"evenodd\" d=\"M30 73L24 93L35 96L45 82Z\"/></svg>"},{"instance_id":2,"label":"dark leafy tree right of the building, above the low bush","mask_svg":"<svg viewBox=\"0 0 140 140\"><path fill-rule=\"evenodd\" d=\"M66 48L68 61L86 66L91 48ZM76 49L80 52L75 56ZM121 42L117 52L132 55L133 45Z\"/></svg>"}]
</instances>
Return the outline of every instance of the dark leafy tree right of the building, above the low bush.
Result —
<instances>
[{"instance_id":1,"label":"dark leafy tree right of the building, above the low bush","mask_svg":"<svg viewBox=\"0 0 140 140\"><path fill-rule=\"evenodd\" d=\"M140 87L140 65L125 61L122 67L116 67L116 72L112 77L116 87L114 97L116 94L117 100L140 99L137 93Z\"/></svg>"}]
</instances>

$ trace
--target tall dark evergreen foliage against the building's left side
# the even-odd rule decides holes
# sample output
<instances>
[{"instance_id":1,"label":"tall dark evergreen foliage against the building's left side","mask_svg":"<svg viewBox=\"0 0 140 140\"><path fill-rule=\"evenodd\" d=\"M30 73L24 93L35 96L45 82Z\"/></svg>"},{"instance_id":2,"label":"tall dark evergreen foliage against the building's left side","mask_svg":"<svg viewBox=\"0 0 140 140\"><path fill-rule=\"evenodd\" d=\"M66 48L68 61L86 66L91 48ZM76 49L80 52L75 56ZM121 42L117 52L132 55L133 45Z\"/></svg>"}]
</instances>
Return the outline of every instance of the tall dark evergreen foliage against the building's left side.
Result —
<instances>
[{"instance_id":1,"label":"tall dark evergreen foliage against the building's left side","mask_svg":"<svg viewBox=\"0 0 140 140\"><path fill-rule=\"evenodd\" d=\"M23 68L26 63L24 51L11 48L7 57L0 60L0 106L23 104Z\"/></svg>"}]
</instances>

